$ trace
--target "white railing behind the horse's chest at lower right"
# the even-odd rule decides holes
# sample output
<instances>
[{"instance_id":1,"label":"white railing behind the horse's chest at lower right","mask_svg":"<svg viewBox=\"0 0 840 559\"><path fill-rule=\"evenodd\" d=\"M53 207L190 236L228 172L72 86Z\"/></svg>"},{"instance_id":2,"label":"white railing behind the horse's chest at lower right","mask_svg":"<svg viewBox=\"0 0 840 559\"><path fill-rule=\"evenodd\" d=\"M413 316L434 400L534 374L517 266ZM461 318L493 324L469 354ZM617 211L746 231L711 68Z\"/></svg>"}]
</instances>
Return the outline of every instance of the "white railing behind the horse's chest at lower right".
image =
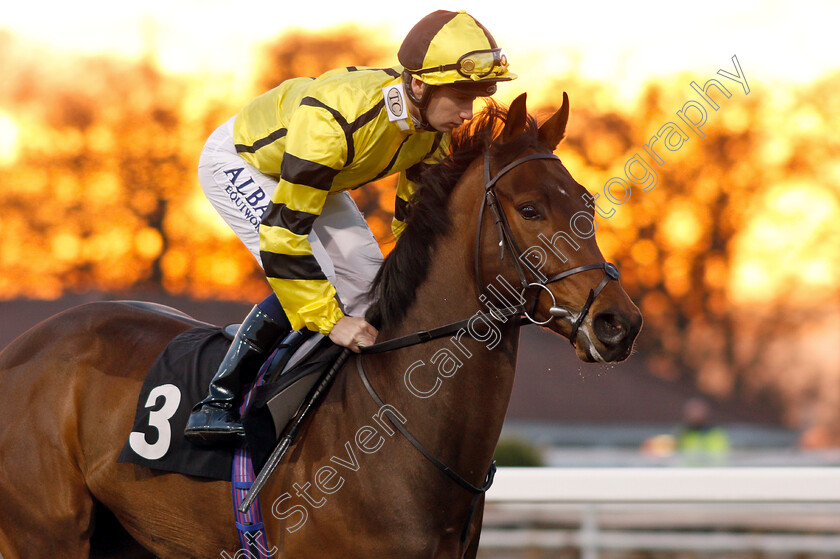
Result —
<instances>
[{"instance_id":1,"label":"white railing behind the horse's chest at lower right","mask_svg":"<svg viewBox=\"0 0 840 559\"><path fill-rule=\"evenodd\" d=\"M840 554L840 468L500 468L481 546Z\"/></svg>"}]
</instances>

